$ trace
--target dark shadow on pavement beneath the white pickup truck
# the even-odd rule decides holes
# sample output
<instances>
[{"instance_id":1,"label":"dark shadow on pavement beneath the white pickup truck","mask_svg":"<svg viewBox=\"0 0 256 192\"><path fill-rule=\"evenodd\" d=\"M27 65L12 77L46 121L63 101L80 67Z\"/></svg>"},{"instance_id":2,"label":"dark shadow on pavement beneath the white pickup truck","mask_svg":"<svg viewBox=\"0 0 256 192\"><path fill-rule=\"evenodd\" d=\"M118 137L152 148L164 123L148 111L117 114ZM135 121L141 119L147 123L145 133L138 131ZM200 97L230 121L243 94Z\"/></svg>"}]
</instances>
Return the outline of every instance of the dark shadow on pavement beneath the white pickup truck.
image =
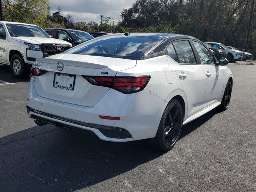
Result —
<instances>
[{"instance_id":1,"label":"dark shadow on pavement beneath the white pickup truck","mask_svg":"<svg viewBox=\"0 0 256 192\"><path fill-rule=\"evenodd\" d=\"M25 78L18 79L15 78L12 74L9 65L0 64L0 82L7 82L7 83L19 83L19 82L28 82L29 81L29 72Z\"/></svg>"}]
</instances>

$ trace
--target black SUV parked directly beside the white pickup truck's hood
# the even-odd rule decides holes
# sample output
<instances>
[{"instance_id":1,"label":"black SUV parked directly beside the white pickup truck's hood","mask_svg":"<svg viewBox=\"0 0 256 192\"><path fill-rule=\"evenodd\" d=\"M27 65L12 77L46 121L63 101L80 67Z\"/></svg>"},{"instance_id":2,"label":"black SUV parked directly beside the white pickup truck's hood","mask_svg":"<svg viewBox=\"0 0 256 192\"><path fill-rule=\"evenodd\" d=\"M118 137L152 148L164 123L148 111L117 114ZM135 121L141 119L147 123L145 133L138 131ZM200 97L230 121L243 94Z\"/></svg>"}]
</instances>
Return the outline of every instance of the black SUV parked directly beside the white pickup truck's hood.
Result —
<instances>
[{"instance_id":1,"label":"black SUV parked directly beside the white pickup truck's hood","mask_svg":"<svg viewBox=\"0 0 256 192\"><path fill-rule=\"evenodd\" d=\"M52 38L64 40L72 43L72 46L76 46L87 40L94 38L90 34L80 30L73 29L60 29L60 28L50 28L44 29Z\"/></svg>"}]
</instances>

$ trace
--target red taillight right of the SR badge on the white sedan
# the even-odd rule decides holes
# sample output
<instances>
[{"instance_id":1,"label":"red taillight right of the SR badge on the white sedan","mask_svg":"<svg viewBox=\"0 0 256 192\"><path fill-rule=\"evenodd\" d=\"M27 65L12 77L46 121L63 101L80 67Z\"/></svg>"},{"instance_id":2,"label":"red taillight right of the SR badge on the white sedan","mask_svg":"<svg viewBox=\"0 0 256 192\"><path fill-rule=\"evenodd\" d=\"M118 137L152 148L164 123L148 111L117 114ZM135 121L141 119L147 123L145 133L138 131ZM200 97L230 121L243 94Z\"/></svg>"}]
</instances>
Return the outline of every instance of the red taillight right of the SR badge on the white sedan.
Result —
<instances>
[{"instance_id":1,"label":"red taillight right of the SR badge on the white sedan","mask_svg":"<svg viewBox=\"0 0 256 192\"><path fill-rule=\"evenodd\" d=\"M120 91L124 94L142 91L150 80L150 76L136 77L102 77L83 76L88 82L97 86L104 86Z\"/></svg>"}]
</instances>

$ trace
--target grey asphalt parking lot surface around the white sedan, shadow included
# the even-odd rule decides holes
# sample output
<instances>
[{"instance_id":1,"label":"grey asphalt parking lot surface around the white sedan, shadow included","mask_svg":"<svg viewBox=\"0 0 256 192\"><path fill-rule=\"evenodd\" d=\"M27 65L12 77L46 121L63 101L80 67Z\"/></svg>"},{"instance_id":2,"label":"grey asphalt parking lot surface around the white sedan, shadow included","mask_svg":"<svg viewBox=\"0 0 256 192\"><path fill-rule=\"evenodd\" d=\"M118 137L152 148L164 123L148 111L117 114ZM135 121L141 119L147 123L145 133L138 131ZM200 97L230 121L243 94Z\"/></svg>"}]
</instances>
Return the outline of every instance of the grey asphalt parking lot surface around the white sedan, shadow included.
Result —
<instances>
[{"instance_id":1,"label":"grey asphalt parking lot surface around the white sedan, shadow included","mask_svg":"<svg viewBox=\"0 0 256 192\"><path fill-rule=\"evenodd\" d=\"M0 191L256 191L256 64L236 62L228 110L182 127L169 152L27 118L28 78L0 65Z\"/></svg>"}]
</instances>

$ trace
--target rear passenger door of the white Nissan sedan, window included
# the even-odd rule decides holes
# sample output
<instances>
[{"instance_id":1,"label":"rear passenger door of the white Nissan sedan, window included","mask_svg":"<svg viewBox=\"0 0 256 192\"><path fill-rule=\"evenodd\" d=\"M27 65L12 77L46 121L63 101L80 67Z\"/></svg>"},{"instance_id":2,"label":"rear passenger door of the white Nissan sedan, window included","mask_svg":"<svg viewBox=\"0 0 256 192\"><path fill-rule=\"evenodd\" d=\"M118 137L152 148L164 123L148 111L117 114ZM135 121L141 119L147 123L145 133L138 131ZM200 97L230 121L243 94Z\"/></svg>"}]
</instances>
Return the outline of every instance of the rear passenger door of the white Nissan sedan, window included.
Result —
<instances>
[{"instance_id":1,"label":"rear passenger door of the white Nissan sedan, window included","mask_svg":"<svg viewBox=\"0 0 256 192\"><path fill-rule=\"evenodd\" d=\"M196 62L189 40L169 44L166 52L168 56L178 62L178 65L173 66L173 69L187 97L187 115L191 116L202 109L206 90L206 76L200 64ZM168 62L173 61L168 58Z\"/></svg>"}]
</instances>

